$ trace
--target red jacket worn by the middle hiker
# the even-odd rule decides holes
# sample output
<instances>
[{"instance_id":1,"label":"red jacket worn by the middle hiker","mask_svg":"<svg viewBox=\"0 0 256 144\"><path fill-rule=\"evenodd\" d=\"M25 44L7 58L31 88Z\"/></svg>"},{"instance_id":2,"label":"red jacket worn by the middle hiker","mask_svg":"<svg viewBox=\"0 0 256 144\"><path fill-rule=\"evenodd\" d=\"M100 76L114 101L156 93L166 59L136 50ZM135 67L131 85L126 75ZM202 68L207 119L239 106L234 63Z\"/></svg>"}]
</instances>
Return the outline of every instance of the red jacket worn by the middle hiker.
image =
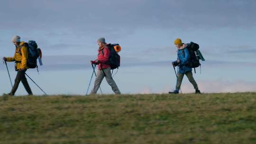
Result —
<instances>
[{"instance_id":1,"label":"red jacket worn by the middle hiker","mask_svg":"<svg viewBox=\"0 0 256 144\"><path fill-rule=\"evenodd\" d=\"M103 53L102 53L102 51L103 51ZM110 65L106 64L106 62L108 62L109 58L110 58L110 49L107 46L105 46L102 50L99 50L98 52L99 52L99 54L98 54L98 63L99 63L98 69L102 70L102 69L110 68ZM93 62L96 63L96 61L93 61Z\"/></svg>"}]
</instances>

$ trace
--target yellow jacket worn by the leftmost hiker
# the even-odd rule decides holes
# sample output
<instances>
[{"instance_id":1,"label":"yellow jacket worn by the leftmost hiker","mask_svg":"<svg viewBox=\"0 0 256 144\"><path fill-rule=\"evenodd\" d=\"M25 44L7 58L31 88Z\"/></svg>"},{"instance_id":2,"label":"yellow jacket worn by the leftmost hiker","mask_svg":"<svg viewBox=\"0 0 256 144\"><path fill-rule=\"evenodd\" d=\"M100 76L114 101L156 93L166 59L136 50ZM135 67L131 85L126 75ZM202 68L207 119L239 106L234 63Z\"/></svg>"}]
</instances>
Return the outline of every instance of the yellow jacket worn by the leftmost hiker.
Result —
<instances>
[{"instance_id":1,"label":"yellow jacket worn by the leftmost hiker","mask_svg":"<svg viewBox=\"0 0 256 144\"><path fill-rule=\"evenodd\" d=\"M19 46L16 46L15 54L13 57L7 57L7 62L16 62L15 69L28 69L27 66L27 47L24 46L25 42L20 42Z\"/></svg>"}]
</instances>

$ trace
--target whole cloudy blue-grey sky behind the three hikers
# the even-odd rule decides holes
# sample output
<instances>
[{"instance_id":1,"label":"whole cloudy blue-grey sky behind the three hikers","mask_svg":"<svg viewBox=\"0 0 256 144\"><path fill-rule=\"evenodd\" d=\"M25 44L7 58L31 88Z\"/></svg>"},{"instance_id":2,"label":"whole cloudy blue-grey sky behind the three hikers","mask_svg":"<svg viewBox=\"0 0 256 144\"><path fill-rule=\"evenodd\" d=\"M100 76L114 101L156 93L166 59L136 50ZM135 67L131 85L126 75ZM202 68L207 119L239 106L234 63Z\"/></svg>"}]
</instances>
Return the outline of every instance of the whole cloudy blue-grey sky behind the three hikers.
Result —
<instances>
[{"instance_id":1,"label":"whole cloudy blue-grey sky behind the three hikers","mask_svg":"<svg viewBox=\"0 0 256 144\"><path fill-rule=\"evenodd\" d=\"M12 36L35 40L43 52L39 74L27 74L47 94L85 95L99 37L118 43L121 93L175 89L174 40L195 42L206 61L193 76L204 93L256 91L255 0L1 0L0 57L13 56ZM14 83L14 64L8 63ZM116 72L116 70L114 71ZM90 90L95 77L92 79ZM34 94L43 94L28 79ZM0 94L11 89L0 64ZM113 93L105 80L103 93ZM194 92L186 77L183 93ZM98 91L99 93L100 91ZM27 94L20 84L16 95Z\"/></svg>"}]
</instances>

